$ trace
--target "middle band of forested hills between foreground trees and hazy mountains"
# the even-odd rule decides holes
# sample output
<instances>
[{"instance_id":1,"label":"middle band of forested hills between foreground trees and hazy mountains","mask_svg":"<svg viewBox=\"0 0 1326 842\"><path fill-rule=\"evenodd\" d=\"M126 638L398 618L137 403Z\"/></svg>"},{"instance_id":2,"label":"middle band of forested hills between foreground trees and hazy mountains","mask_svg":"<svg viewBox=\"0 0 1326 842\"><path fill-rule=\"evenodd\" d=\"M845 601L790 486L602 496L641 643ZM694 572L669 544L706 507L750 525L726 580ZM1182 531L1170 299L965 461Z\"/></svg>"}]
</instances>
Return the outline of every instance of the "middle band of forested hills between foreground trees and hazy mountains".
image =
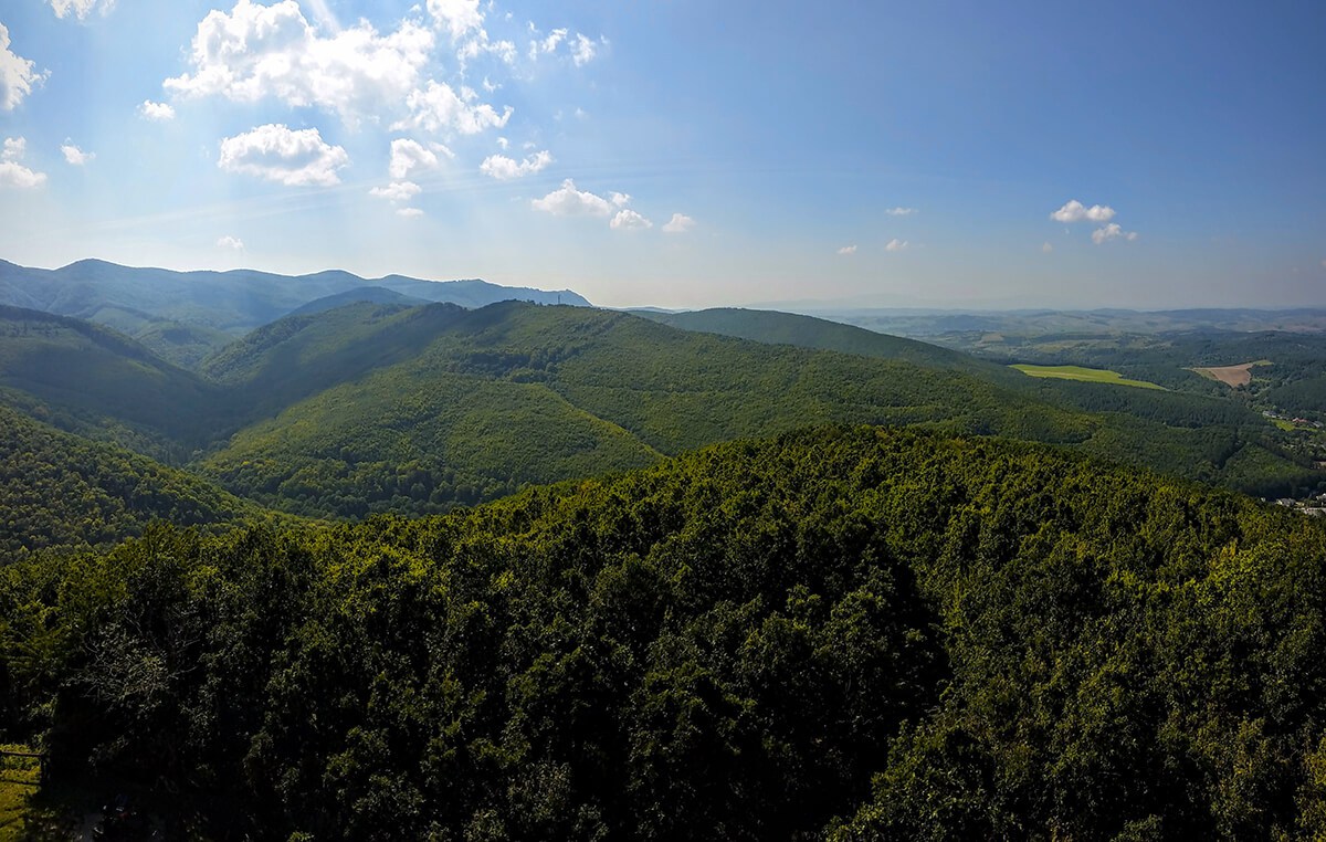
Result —
<instances>
[{"instance_id":1,"label":"middle band of forested hills between foreground trees and hazy mountains","mask_svg":"<svg viewBox=\"0 0 1326 842\"><path fill-rule=\"evenodd\" d=\"M102 328L12 313L0 400L314 517L438 513L826 422L1067 444L1260 495L1322 479L1227 403L1012 385L590 308L357 302L267 325L202 375L89 339Z\"/></svg>"}]
</instances>

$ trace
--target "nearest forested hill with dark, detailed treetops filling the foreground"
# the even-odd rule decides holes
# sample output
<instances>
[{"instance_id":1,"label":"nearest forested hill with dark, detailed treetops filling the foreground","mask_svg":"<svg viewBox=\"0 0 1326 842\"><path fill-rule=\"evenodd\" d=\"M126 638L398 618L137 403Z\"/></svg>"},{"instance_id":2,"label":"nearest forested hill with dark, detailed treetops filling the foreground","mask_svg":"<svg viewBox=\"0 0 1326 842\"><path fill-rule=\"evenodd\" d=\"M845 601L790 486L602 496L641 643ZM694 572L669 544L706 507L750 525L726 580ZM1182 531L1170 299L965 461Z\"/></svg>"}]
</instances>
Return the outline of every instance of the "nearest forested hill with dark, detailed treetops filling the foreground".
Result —
<instances>
[{"instance_id":1,"label":"nearest forested hill with dark, detailed treetops filling the foreground","mask_svg":"<svg viewBox=\"0 0 1326 842\"><path fill-rule=\"evenodd\" d=\"M229 838L1319 838L1323 558L1044 447L802 431L0 569L0 733Z\"/></svg>"}]
</instances>

